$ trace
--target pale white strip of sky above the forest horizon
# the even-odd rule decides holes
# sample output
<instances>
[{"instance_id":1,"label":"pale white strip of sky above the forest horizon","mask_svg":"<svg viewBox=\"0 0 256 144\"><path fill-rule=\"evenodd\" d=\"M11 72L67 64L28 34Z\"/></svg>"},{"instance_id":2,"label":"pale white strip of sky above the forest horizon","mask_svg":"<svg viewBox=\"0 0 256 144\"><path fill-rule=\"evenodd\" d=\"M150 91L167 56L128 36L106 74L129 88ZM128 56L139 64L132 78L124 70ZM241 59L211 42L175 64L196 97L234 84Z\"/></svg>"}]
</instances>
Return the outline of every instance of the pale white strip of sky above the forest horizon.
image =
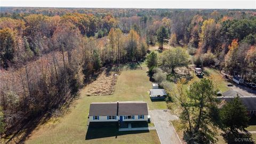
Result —
<instances>
[{"instance_id":1,"label":"pale white strip of sky above the forest horizon","mask_svg":"<svg viewBox=\"0 0 256 144\"><path fill-rule=\"evenodd\" d=\"M1 6L160 9L256 9L256 0L1 0Z\"/></svg>"}]
</instances>

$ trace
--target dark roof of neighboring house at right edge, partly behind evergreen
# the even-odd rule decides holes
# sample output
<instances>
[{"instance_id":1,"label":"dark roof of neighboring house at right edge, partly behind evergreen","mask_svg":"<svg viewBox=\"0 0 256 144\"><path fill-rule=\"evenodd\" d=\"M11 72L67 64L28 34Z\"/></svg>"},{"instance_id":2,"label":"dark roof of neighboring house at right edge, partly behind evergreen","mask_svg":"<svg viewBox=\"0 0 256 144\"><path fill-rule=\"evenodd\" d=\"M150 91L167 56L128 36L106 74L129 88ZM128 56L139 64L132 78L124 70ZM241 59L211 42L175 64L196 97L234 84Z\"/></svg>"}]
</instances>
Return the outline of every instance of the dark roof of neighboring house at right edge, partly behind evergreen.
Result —
<instances>
[{"instance_id":1,"label":"dark roof of neighboring house at right edge, partly behind evergreen","mask_svg":"<svg viewBox=\"0 0 256 144\"><path fill-rule=\"evenodd\" d=\"M235 97L217 97L219 100L230 102ZM256 97L239 97L247 110L256 110Z\"/></svg>"}]
</instances>

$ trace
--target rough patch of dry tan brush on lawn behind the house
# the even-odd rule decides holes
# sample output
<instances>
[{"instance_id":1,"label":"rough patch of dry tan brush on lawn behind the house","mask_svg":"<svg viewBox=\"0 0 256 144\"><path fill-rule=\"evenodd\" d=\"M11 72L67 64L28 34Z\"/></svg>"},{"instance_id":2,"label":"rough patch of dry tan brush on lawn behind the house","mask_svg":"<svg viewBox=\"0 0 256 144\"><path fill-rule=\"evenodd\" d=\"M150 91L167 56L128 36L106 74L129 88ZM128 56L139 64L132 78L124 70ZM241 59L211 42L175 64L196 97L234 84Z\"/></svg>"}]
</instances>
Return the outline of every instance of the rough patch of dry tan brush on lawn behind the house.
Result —
<instances>
[{"instance_id":1,"label":"rough patch of dry tan brush on lawn behind the house","mask_svg":"<svg viewBox=\"0 0 256 144\"><path fill-rule=\"evenodd\" d=\"M103 71L98 78L86 86L87 96L110 95L115 91L118 73Z\"/></svg>"}]
</instances>

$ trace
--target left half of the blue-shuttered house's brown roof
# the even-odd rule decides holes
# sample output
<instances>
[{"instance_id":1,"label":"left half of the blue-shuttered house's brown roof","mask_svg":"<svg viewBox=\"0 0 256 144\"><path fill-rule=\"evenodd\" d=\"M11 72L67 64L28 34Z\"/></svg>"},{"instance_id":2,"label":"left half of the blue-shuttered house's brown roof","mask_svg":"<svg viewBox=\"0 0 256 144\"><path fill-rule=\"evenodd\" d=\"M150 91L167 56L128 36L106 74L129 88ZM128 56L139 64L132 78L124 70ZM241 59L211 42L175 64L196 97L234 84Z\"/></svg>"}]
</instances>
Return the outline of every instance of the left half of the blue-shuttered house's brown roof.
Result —
<instances>
[{"instance_id":1,"label":"left half of the blue-shuttered house's brown roof","mask_svg":"<svg viewBox=\"0 0 256 144\"><path fill-rule=\"evenodd\" d=\"M112 116L117 114L117 102L93 102L89 116Z\"/></svg>"}]
</instances>

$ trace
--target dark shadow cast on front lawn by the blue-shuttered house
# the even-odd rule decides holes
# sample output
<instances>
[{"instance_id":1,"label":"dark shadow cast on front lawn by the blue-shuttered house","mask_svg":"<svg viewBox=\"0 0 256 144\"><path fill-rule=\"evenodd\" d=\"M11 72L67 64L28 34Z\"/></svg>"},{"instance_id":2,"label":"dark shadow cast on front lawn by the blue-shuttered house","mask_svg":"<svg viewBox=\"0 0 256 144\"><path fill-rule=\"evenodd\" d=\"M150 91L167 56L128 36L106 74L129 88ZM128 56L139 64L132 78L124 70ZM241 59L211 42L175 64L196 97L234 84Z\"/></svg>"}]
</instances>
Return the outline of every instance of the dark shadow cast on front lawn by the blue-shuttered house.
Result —
<instances>
[{"instance_id":1,"label":"dark shadow cast on front lawn by the blue-shuttered house","mask_svg":"<svg viewBox=\"0 0 256 144\"><path fill-rule=\"evenodd\" d=\"M85 140L108 138L108 137L115 137L117 139L119 135L137 134L137 133L146 133L146 132L149 132L149 130L119 132L117 122L94 122L94 123L91 122L87 129Z\"/></svg>"}]
</instances>

